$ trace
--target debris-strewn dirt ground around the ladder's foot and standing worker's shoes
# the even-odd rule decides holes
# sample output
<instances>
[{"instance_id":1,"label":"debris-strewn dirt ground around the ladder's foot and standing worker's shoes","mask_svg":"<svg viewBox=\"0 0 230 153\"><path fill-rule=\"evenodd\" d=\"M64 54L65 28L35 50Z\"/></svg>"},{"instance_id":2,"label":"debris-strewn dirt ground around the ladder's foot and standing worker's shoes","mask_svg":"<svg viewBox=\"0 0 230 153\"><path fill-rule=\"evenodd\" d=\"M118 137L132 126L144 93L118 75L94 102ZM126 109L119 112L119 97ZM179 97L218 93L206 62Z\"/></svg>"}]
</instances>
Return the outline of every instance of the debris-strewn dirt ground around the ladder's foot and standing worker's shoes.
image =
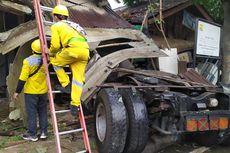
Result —
<instances>
[{"instance_id":1,"label":"debris-strewn dirt ground around the ladder's foot and standing worker's shoes","mask_svg":"<svg viewBox=\"0 0 230 153\"><path fill-rule=\"evenodd\" d=\"M57 109L59 109L57 107ZM59 131L67 131L80 128L79 120L73 118L69 113L57 114ZM92 116L86 116L87 129L90 139L90 145L93 153L97 153ZM0 120L0 135L5 131L13 132L14 136L0 136L0 153L55 153L55 138L52 131L51 115L49 114L48 139L37 142L28 142L22 139L22 134L26 132L22 121ZM39 131L39 129L38 129ZM7 132L6 132L7 133ZM73 153L84 150L82 133L73 133L63 135L61 138L61 147L63 153Z\"/></svg>"}]
</instances>

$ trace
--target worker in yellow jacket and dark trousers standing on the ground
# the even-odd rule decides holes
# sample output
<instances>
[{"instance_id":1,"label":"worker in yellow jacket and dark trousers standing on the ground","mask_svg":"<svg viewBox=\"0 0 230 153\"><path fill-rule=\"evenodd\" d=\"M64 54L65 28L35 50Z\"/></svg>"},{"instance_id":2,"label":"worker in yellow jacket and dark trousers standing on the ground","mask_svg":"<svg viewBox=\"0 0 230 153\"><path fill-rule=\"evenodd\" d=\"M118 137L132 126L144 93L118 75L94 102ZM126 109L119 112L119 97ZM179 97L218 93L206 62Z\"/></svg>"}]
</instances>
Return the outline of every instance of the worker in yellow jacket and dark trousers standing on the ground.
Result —
<instances>
[{"instance_id":1,"label":"worker in yellow jacket and dark trousers standing on the ground","mask_svg":"<svg viewBox=\"0 0 230 153\"><path fill-rule=\"evenodd\" d=\"M33 55L23 60L18 85L13 98L16 100L24 88L25 106L28 117L28 131L22 137L25 140L37 141L37 114L39 117L40 139L47 138L47 84L40 41L32 42Z\"/></svg>"}]
</instances>

